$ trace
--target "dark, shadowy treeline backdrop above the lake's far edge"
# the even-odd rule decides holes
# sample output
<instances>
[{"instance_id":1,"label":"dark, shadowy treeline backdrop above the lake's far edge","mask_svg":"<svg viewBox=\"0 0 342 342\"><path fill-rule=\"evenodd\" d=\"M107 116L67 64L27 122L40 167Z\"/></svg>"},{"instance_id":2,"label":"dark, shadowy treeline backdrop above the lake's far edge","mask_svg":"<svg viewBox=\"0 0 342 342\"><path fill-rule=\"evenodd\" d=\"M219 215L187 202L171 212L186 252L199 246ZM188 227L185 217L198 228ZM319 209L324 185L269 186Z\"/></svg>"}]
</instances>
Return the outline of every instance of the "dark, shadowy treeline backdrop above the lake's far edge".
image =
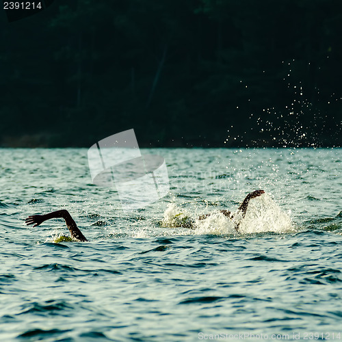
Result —
<instances>
[{"instance_id":1,"label":"dark, shadowy treeline backdrop above the lake's far edge","mask_svg":"<svg viewBox=\"0 0 342 342\"><path fill-rule=\"evenodd\" d=\"M2 146L341 146L341 0L55 0L0 23Z\"/></svg>"}]
</instances>

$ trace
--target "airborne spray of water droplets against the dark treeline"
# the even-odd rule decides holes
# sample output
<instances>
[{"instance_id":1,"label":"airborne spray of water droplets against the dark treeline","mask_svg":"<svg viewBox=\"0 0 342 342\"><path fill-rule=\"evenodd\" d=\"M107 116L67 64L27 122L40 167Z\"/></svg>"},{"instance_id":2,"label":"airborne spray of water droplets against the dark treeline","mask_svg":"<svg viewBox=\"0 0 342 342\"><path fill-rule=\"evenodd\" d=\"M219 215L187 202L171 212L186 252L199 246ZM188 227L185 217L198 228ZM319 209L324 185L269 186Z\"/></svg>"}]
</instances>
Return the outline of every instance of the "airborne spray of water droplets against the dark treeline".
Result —
<instances>
[{"instance_id":1,"label":"airborne spray of water droplets against the dark treeline","mask_svg":"<svg viewBox=\"0 0 342 342\"><path fill-rule=\"evenodd\" d=\"M341 146L338 137L341 135L342 122L332 115L341 107L341 94L328 94L324 89L320 90L317 84L307 84L304 75L301 80L303 68L299 61L282 61L282 64L284 85L281 91L286 100L276 101L272 106L267 104L263 109L250 113L249 120L253 124L250 124L249 131L237 134L232 125L227 129L224 144L234 146L239 142L240 146L247 145L248 137L253 137L252 146ZM310 64L308 62L308 66ZM265 70L263 73L267 77ZM240 83L244 82L241 80ZM244 88L246 92L252 89L247 84ZM241 105L236 108L239 109Z\"/></svg>"}]
</instances>

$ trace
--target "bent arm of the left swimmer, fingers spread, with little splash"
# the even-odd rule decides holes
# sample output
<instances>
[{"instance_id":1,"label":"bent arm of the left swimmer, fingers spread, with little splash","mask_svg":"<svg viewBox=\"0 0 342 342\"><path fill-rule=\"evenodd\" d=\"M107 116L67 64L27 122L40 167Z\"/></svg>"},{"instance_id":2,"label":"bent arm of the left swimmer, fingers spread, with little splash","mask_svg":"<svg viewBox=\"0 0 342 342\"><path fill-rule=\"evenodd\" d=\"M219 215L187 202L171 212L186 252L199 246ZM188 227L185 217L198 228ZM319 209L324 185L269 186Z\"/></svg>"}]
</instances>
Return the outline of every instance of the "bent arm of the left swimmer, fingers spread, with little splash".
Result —
<instances>
[{"instance_id":1,"label":"bent arm of the left swimmer, fingers spread, with little splash","mask_svg":"<svg viewBox=\"0 0 342 342\"><path fill-rule=\"evenodd\" d=\"M42 222L50 220L51 218L64 218L66 226L68 226L68 229L70 231L71 237L79 241L88 241L77 227L77 224L71 217L70 213L65 209L53 211L52 213L47 213L45 215L31 215L25 220L25 223L27 225L34 224L34 227L36 227L39 226Z\"/></svg>"}]
</instances>

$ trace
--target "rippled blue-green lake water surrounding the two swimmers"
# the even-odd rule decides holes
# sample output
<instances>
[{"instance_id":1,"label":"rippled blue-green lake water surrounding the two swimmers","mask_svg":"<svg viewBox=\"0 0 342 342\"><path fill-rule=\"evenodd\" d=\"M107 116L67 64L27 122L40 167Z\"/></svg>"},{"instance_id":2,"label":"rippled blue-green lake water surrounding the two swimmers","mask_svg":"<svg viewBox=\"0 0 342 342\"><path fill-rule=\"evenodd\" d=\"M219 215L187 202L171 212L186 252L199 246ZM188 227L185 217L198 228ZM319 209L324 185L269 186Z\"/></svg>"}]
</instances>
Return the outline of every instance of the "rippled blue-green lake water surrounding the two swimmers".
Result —
<instances>
[{"instance_id":1,"label":"rippled blue-green lake water surrounding the two swimmers","mask_svg":"<svg viewBox=\"0 0 342 342\"><path fill-rule=\"evenodd\" d=\"M165 158L170 194L127 212L87 149L0 149L1 341L342 339L341 149L142 152ZM236 233L218 211L254 189ZM25 225L58 209L89 242Z\"/></svg>"}]
</instances>

